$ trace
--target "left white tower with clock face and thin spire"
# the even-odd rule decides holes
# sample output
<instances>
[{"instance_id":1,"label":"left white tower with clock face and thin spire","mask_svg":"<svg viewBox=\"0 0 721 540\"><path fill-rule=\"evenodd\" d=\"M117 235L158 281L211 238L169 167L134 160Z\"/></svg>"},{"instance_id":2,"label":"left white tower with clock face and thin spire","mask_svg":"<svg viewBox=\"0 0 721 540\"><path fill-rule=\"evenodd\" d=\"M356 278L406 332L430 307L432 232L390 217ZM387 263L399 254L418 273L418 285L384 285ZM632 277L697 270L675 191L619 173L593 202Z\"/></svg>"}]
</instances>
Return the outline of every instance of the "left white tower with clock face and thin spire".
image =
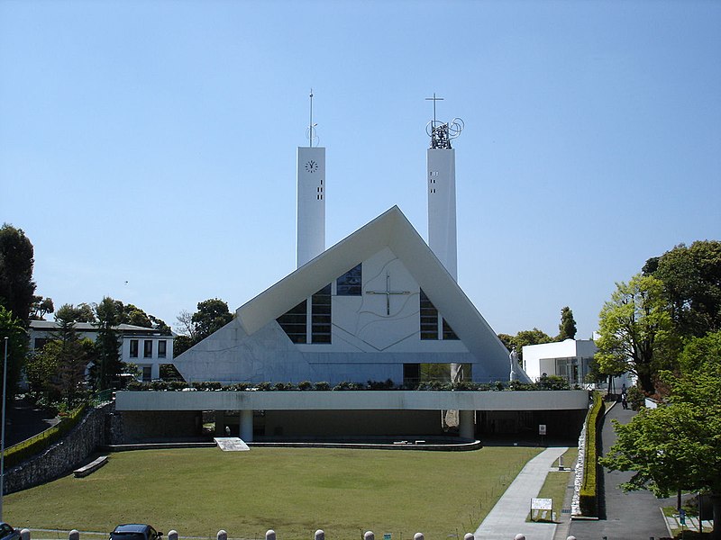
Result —
<instances>
[{"instance_id":1,"label":"left white tower with clock face and thin spire","mask_svg":"<svg viewBox=\"0 0 721 540\"><path fill-rule=\"evenodd\" d=\"M317 144L313 123L313 90L310 94L310 124L307 147L298 147L297 157L297 267L325 251L325 148Z\"/></svg>"}]
</instances>

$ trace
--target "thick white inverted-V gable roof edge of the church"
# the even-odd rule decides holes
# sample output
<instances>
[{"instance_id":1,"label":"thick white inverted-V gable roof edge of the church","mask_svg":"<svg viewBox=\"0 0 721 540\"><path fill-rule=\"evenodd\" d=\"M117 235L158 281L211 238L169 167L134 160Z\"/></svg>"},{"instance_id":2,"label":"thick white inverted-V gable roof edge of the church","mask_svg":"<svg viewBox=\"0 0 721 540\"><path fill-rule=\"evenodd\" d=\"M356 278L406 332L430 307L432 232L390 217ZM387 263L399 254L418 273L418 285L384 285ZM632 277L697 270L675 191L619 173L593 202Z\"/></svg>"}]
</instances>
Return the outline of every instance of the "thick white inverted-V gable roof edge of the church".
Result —
<instances>
[{"instance_id":1,"label":"thick white inverted-V gable roof edge of the church","mask_svg":"<svg viewBox=\"0 0 721 540\"><path fill-rule=\"evenodd\" d=\"M509 373L506 347L397 206L243 304L237 319L251 335L385 247L406 266L470 353L488 371Z\"/></svg>"}]
</instances>

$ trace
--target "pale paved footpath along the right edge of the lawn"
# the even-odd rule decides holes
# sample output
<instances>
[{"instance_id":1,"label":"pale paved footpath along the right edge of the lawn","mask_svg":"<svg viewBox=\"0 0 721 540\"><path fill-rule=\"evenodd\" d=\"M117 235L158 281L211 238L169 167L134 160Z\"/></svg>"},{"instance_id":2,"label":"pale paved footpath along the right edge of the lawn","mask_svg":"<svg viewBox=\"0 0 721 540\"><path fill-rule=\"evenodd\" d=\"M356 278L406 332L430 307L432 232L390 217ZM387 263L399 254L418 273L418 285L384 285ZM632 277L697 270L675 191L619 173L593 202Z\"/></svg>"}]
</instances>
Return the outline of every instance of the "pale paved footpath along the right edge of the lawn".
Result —
<instances>
[{"instance_id":1,"label":"pale paved footpath along the right edge of the lawn","mask_svg":"<svg viewBox=\"0 0 721 540\"><path fill-rule=\"evenodd\" d=\"M546 448L525 464L476 530L476 540L513 540L518 534L528 540L552 540L555 523L529 523L525 518L531 510L531 499L537 497L543 487L546 474L566 450L567 447Z\"/></svg>"}]
</instances>

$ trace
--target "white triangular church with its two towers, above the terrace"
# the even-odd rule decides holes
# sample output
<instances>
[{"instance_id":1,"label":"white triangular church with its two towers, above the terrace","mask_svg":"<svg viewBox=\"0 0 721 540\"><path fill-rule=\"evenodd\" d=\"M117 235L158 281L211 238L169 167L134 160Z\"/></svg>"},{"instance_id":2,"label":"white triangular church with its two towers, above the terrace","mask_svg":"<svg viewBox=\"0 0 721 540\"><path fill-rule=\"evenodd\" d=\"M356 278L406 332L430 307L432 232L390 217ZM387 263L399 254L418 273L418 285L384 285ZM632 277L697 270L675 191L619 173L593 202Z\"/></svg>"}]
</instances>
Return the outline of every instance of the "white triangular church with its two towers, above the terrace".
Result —
<instances>
[{"instance_id":1,"label":"white triangular church with its two towers, above the terrace","mask_svg":"<svg viewBox=\"0 0 721 540\"><path fill-rule=\"evenodd\" d=\"M434 122L427 150L428 244L394 206L326 250L325 148L298 148L298 268L174 360L186 381L400 384L424 364L507 381L506 347L456 282L452 125Z\"/></svg>"}]
</instances>

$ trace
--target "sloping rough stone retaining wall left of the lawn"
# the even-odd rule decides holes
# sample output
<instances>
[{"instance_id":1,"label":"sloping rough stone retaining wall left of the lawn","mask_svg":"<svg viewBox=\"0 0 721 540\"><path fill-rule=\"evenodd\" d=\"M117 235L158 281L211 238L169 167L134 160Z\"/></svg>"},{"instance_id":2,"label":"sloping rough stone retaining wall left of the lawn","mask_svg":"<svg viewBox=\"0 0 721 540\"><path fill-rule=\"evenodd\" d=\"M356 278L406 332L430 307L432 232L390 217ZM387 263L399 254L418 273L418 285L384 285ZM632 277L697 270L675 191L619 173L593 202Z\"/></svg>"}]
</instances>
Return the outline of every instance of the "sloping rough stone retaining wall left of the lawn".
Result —
<instances>
[{"instance_id":1,"label":"sloping rough stone retaining wall left of the lawn","mask_svg":"<svg viewBox=\"0 0 721 540\"><path fill-rule=\"evenodd\" d=\"M27 490L72 473L96 452L97 446L112 439L112 427L106 417L114 410L114 403L105 403L87 413L86 417L66 437L23 464L5 472L5 494Z\"/></svg>"}]
</instances>

